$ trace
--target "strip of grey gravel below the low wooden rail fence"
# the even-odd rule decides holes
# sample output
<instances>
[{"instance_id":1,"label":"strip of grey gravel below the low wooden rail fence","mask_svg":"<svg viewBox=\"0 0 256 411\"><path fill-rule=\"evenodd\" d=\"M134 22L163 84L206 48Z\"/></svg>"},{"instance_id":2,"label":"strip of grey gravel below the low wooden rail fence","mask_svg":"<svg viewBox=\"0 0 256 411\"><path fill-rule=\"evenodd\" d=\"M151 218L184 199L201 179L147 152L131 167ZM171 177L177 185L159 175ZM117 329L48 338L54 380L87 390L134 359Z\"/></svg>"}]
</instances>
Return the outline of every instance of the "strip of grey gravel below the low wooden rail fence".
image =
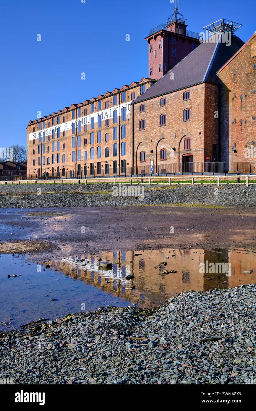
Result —
<instances>
[{"instance_id":1,"label":"strip of grey gravel below the low wooden rail fence","mask_svg":"<svg viewBox=\"0 0 256 411\"><path fill-rule=\"evenodd\" d=\"M123 185L122 185L123 186ZM135 186L136 187L136 186ZM256 205L256 185L145 187L144 198L115 197L111 184L1 185L0 208L101 207L157 204ZM37 195L41 189L41 195Z\"/></svg>"}]
</instances>

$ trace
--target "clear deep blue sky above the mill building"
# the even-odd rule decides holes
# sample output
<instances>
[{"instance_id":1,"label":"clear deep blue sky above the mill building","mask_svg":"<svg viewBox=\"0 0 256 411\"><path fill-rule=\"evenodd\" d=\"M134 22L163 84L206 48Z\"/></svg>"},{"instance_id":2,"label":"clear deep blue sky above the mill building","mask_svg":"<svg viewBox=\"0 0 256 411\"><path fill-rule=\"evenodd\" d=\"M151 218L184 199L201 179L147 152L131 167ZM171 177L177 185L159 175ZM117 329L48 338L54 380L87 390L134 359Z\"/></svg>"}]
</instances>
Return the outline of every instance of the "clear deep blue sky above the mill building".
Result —
<instances>
[{"instance_id":1,"label":"clear deep blue sky above the mill building","mask_svg":"<svg viewBox=\"0 0 256 411\"><path fill-rule=\"evenodd\" d=\"M48 115L148 77L144 38L173 10L170 0L2 0L0 146L26 146L37 111ZM242 23L243 41L256 31L255 0L179 0L179 10L191 31L222 17Z\"/></svg>"}]
</instances>

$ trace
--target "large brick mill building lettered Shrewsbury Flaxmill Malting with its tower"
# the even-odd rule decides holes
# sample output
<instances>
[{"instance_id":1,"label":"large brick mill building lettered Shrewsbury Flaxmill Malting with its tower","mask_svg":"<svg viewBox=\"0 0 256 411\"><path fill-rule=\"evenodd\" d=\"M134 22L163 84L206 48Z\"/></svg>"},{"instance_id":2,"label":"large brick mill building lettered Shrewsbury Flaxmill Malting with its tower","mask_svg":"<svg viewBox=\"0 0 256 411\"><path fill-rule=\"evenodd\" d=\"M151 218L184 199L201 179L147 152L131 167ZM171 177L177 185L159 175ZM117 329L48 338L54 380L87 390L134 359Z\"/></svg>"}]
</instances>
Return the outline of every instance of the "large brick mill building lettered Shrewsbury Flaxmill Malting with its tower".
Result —
<instances>
[{"instance_id":1,"label":"large brick mill building lettered Shrewsbury Flaxmill Malting with its tower","mask_svg":"<svg viewBox=\"0 0 256 411\"><path fill-rule=\"evenodd\" d=\"M256 34L244 44L234 34L239 27L221 19L202 41L175 8L167 24L146 37L147 78L29 122L28 174L177 173L211 171L220 162L250 164Z\"/></svg>"}]
</instances>

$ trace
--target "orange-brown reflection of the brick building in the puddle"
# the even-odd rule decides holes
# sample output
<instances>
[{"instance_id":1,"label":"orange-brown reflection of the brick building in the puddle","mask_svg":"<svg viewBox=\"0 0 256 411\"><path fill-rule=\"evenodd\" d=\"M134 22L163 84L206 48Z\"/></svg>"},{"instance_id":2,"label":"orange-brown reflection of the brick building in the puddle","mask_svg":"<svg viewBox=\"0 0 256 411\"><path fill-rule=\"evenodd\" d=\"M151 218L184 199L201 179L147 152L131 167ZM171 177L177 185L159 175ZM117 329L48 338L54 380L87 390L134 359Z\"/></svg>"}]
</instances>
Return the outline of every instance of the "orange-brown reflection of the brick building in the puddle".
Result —
<instances>
[{"instance_id":1,"label":"orange-brown reflection of the brick building in the puddle","mask_svg":"<svg viewBox=\"0 0 256 411\"><path fill-rule=\"evenodd\" d=\"M167 258L166 258L167 257ZM113 263L111 270L99 268L98 259ZM231 263L231 275L200 273L200 263ZM189 290L228 289L256 282L256 254L242 249L163 249L101 252L50 262L74 280L84 281L135 304L154 306ZM166 266L164 263L167 263ZM155 268L157 266L157 268ZM176 273L161 275L162 270ZM244 273L254 269L251 274ZM134 279L126 279L134 275ZM134 288L135 287L135 288Z\"/></svg>"}]
</instances>

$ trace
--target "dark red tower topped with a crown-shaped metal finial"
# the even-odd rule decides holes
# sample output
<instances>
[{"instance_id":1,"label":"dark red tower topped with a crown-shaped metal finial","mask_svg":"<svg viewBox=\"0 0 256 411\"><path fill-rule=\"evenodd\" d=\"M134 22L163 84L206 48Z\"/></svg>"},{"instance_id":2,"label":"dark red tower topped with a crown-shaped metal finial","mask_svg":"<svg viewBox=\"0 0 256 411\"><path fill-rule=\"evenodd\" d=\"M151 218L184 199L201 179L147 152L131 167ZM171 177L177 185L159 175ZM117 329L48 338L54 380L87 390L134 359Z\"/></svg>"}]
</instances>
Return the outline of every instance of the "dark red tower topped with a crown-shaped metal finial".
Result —
<instances>
[{"instance_id":1,"label":"dark red tower topped with a crown-shaped metal finial","mask_svg":"<svg viewBox=\"0 0 256 411\"><path fill-rule=\"evenodd\" d=\"M199 34L186 30L185 18L175 10L166 24L150 30L148 41L149 78L161 79L199 44Z\"/></svg>"}]
</instances>

